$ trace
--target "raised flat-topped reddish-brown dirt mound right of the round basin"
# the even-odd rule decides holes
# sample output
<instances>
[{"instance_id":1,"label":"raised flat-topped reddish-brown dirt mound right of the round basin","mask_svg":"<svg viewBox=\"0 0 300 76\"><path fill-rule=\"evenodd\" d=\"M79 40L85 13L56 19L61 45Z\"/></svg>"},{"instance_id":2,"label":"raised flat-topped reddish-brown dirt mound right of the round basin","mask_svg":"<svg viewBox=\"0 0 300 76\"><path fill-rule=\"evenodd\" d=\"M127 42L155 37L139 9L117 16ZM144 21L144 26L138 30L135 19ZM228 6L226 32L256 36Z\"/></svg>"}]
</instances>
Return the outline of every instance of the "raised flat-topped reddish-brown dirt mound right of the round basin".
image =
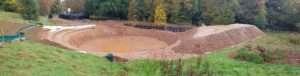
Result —
<instances>
[{"instance_id":1,"label":"raised flat-topped reddish-brown dirt mound right of the round basin","mask_svg":"<svg viewBox=\"0 0 300 76\"><path fill-rule=\"evenodd\" d=\"M246 24L200 27L181 33L181 35L186 36L181 38L182 43L174 50L176 52L202 54L247 43L263 34L257 27Z\"/></svg>"}]
</instances>

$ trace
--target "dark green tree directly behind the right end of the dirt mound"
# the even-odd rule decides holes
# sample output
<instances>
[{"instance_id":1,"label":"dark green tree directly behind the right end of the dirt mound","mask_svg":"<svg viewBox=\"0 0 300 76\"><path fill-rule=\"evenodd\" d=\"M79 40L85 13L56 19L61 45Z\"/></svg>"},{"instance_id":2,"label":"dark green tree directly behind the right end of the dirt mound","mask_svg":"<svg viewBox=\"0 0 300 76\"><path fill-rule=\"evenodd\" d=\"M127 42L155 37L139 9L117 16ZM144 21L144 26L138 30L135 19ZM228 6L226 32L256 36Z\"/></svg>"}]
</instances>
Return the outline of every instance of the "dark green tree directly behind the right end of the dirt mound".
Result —
<instances>
[{"instance_id":1,"label":"dark green tree directly behind the right end of the dirt mound","mask_svg":"<svg viewBox=\"0 0 300 76\"><path fill-rule=\"evenodd\" d=\"M236 17L237 22L255 24L259 28L268 24L265 0L240 0L239 4L241 12Z\"/></svg>"}]
</instances>

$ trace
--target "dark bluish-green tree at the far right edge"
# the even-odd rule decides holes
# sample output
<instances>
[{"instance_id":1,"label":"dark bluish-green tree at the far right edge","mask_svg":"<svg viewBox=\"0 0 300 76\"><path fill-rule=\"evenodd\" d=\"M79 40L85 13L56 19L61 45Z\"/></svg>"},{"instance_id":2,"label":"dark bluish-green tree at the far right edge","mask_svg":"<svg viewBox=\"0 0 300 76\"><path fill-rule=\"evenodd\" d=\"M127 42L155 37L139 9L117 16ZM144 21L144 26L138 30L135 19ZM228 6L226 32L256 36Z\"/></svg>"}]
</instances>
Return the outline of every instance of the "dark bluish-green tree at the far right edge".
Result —
<instances>
[{"instance_id":1,"label":"dark bluish-green tree at the far right edge","mask_svg":"<svg viewBox=\"0 0 300 76\"><path fill-rule=\"evenodd\" d=\"M268 28L274 30L296 31L300 22L300 3L298 0L268 0L266 3Z\"/></svg>"}]
</instances>

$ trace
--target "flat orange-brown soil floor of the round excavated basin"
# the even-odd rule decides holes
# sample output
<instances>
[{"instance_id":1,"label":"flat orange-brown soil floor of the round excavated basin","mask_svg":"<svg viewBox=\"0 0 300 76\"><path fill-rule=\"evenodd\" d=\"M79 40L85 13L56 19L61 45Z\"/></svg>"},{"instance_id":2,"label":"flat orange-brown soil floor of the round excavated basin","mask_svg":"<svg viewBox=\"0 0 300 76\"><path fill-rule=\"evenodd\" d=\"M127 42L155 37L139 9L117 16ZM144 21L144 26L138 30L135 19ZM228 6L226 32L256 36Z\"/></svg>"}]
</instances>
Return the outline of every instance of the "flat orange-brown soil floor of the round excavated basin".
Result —
<instances>
[{"instance_id":1,"label":"flat orange-brown soil floor of the round excavated basin","mask_svg":"<svg viewBox=\"0 0 300 76\"><path fill-rule=\"evenodd\" d=\"M143 46L143 47L141 47ZM167 47L167 43L145 36L109 37L86 41L79 48L83 50L107 53L130 53L143 50L159 50Z\"/></svg>"}]
</instances>

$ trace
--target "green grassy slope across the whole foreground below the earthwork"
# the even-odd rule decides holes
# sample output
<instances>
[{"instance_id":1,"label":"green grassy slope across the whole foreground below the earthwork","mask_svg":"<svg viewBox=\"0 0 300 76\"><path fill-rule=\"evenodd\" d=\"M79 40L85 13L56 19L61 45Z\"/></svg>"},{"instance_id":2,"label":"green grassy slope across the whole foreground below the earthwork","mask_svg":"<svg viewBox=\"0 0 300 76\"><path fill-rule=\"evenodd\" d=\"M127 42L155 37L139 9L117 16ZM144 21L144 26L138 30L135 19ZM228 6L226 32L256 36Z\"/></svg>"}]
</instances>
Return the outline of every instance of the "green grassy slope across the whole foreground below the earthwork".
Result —
<instances>
[{"instance_id":1,"label":"green grassy slope across the whole foreground below the earthwork","mask_svg":"<svg viewBox=\"0 0 300 76\"><path fill-rule=\"evenodd\" d=\"M278 33L269 33L269 35L280 39L285 37L285 34ZM265 38L256 40L255 43L265 44L260 41L263 39ZM278 43L287 46L284 41ZM300 50L296 45L292 46L291 48ZM0 76L110 76L112 74L113 76L174 76L177 74L185 76L189 75L188 73L213 76L297 76L300 74L300 66L296 65L254 64L236 61L227 56L239 47L203 56L201 63L198 58L174 62L136 60L127 63L109 63L97 56L32 41L6 43L4 47L0 48Z\"/></svg>"}]
</instances>

